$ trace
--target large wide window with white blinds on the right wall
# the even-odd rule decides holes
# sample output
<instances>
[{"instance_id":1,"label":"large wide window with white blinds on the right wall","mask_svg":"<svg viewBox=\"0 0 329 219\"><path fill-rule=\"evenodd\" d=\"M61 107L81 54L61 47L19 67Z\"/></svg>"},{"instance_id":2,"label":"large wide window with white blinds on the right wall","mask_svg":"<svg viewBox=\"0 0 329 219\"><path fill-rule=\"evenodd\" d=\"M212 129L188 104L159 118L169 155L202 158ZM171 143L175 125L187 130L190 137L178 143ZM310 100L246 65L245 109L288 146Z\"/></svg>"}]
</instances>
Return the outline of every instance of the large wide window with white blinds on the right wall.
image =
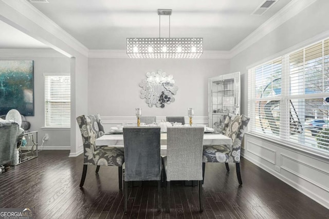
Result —
<instances>
[{"instance_id":1,"label":"large wide window with white blinds on the right wall","mask_svg":"<svg viewBox=\"0 0 329 219\"><path fill-rule=\"evenodd\" d=\"M329 39L248 70L249 131L329 153Z\"/></svg>"}]
</instances>

